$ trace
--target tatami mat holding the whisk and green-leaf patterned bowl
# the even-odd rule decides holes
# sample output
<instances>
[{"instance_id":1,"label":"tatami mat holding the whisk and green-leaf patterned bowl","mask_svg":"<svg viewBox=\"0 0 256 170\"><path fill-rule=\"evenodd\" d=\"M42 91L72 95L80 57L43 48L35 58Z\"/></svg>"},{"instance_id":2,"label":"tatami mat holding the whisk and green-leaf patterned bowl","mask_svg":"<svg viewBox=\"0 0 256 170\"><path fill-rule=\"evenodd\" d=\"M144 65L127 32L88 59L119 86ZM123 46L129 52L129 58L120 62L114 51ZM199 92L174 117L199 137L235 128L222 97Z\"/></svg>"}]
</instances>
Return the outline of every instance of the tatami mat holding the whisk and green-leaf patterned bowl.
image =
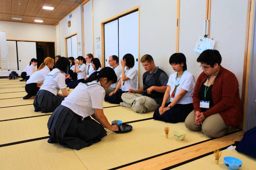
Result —
<instances>
[{"instance_id":1,"label":"tatami mat holding the whisk and green-leaf patterned bowl","mask_svg":"<svg viewBox=\"0 0 256 170\"><path fill-rule=\"evenodd\" d=\"M187 130L184 123L147 120L130 125L133 130L129 133L116 134L107 130L108 135L102 141L74 151L88 169L109 169L209 139L202 132ZM168 139L165 138L165 126L170 127ZM174 130L185 130L185 139L175 140Z\"/></svg>"}]
</instances>

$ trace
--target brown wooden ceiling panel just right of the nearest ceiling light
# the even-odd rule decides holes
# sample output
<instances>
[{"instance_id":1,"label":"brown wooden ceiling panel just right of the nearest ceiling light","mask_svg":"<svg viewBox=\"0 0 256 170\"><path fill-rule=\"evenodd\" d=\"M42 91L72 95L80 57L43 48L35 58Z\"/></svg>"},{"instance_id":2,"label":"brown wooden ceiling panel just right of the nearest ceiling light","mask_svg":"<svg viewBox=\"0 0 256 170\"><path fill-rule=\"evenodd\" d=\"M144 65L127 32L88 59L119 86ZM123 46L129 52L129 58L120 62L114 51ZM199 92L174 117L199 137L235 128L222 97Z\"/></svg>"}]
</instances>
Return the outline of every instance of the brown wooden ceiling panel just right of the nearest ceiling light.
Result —
<instances>
[{"instance_id":1,"label":"brown wooden ceiling panel just right of the nearest ceiling light","mask_svg":"<svg viewBox=\"0 0 256 170\"><path fill-rule=\"evenodd\" d=\"M58 19L59 16L65 13L70 7L72 7L74 3L72 2L64 2L61 3L52 11L52 13L48 16L48 18Z\"/></svg>"}]
</instances>

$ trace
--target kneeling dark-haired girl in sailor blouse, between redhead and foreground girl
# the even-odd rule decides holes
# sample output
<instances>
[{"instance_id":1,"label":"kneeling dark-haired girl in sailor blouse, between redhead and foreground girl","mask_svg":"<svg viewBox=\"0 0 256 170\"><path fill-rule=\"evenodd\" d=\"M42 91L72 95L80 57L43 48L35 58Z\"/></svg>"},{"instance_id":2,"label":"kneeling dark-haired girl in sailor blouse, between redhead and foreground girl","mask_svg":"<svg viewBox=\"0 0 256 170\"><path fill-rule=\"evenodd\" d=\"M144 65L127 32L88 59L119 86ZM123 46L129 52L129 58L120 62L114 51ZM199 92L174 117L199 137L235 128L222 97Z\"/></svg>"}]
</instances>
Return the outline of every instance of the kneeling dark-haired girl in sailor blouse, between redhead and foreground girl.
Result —
<instances>
[{"instance_id":1,"label":"kneeling dark-haired girl in sailor blouse, between redhead and foreground girl","mask_svg":"<svg viewBox=\"0 0 256 170\"><path fill-rule=\"evenodd\" d=\"M60 57L55 64L56 68L45 76L44 84L37 92L33 103L35 112L53 112L69 95L64 75L69 69L69 64L66 57ZM58 93L60 89L62 94Z\"/></svg>"}]
</instances>

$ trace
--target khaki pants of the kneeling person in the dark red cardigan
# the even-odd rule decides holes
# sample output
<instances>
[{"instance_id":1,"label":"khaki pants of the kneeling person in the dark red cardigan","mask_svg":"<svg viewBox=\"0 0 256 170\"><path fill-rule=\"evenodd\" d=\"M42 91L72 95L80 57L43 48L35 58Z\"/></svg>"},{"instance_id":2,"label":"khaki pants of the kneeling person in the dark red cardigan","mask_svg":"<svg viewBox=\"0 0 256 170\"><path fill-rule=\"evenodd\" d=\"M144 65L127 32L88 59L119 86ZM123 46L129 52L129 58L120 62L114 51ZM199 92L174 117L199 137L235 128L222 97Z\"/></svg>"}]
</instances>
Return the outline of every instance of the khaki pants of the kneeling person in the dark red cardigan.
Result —
<instances>
[{"instance_id":1,"label":"khaki pants of the kneeling person in the dark red cardigan","mask_svg":"<svg viewBox=\"0 0 256 170\"><path fill-rule=\"evenodd\" d=\"M196 114L193 110L189 113L185 120L185 126L189 130L200 131L204 132L204 134L208 137L212 138L219 138L224 136L231 125L225 125L223 119L221 118L219 113L210 115L207 117L202 125L195 124Z\"/></svg>"}]
</instances>

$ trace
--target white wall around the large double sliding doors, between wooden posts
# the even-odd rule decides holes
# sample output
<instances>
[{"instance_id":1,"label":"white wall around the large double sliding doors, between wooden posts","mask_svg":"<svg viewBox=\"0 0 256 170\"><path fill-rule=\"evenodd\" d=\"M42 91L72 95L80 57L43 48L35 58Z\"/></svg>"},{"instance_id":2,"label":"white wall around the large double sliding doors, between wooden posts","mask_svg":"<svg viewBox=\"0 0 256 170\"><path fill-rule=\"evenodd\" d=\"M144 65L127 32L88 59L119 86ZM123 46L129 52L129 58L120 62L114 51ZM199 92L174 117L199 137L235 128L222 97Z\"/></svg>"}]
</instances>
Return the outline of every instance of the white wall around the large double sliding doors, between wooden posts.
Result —
<instances>
[{"instance_id":1,"label":"white wall around the large double sliding doors, between wooden posts","mask_svg":"<svg viewBox=\"0 0 256 170\"><path fill-rule=\"evenodd\" d=\"M176 1L94 0L94 50L97 51L97 44L101 44L95 41L96 37L101 36L101 21L138 5L140 5L140 58L144 54L150 54L156 66L169 75L173 70L167 61L175 53ZM141 86L145 70L141 63L139 64L139 85Z\"/></svg>"}]
</instances>

